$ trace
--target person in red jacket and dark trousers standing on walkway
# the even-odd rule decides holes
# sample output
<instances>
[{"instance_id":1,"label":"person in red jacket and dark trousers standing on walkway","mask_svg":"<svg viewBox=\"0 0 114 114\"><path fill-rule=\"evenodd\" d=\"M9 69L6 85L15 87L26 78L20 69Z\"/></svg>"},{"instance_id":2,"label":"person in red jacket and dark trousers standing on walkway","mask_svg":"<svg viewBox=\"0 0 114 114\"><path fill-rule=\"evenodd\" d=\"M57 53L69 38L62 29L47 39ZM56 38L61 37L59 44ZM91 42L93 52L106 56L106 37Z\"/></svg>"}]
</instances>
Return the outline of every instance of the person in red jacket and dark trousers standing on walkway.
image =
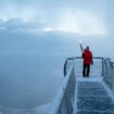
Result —
<instances>
[{"instance_id":1,"label":"person in red jacket and dark trousers standing on walkway","mask_svg":"<svg viewBox=\"0 0 114 114\"><path fill-rule=\"evenodd\" d=\"M83 52L83 59L84 59L83 76L89 77L90 64L93 64L93 61L92 61L92 52L89 50L88 46Z\"/></svg>"}]
</instances>

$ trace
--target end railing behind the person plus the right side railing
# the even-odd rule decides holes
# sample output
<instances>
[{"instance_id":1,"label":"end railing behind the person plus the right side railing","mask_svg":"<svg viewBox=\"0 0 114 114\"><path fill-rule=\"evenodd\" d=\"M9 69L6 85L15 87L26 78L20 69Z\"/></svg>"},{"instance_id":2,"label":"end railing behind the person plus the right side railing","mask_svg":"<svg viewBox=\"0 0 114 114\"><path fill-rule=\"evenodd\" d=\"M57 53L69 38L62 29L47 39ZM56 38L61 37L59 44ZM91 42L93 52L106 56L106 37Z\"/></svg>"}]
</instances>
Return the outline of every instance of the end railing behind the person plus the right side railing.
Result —
<instances>
[{"instance_id":1,"label":"end railing behind the person plus the right side railing","mask_svg":"<svg viewBox=\"0 0 114 114\"><path fill-rule=\"evenodd\" d=\"M83 61L83 58L75 56L75 58L66 59L65 64L64 64L64 76L67 74L68 68L71 67L72 61L75 61L75 75L77 75L77 74L80 76L83 75L83 62L79 61L77 63L77 60ZM76 67L76 65L79 66L79 64L81 64L79 67L80 69L78 69L78 67ZM103 80L105 81L105 84L110 87L110 89L114 93L114 62L112 62L111 59L109 59L109 58L104 59L104 58L100 58L100 56L93 58L93 66L91 66L90 76L92 76L93 74L96 74L96 76L98 76L98 75L103 76Z\"/></svg>"}]
</instances>

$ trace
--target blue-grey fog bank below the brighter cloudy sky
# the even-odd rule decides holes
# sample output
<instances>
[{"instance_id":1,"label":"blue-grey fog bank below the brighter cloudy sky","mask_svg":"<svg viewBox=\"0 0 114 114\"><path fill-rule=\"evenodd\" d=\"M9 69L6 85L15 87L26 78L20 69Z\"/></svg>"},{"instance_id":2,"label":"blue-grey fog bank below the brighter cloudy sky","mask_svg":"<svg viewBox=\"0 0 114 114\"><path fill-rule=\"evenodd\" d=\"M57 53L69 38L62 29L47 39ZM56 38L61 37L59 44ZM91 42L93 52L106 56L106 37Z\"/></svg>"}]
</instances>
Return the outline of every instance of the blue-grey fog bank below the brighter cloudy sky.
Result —
<instances>
[{"instance_id":1,"label":"blue-grey fog bank below the brighter cloudy sky","mask_svg":"<svg viewBox=\"0 0 114 114\"><path fill-rule=\"evenodd\" d=\"M94 56L114 60L111 51L114 40L109 36L62 33L0 33L0 103L5 106L30 109L49 103L64 78L65 59L81 55L80 38Z\"/></svg>"}]
</instances>

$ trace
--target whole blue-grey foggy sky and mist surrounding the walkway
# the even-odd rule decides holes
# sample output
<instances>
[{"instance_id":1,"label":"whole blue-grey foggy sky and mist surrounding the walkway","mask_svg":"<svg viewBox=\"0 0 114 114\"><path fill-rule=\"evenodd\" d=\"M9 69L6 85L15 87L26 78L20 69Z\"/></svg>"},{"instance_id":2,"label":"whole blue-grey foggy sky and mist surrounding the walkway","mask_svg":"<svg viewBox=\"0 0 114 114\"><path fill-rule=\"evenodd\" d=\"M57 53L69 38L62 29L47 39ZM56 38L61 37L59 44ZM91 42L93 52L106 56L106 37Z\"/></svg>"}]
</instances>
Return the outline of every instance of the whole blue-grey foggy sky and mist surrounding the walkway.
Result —
<instances>
[{"instance_id":1,"label":"whole blue-grey foggy sky and mist surrounding the walkway","mask_svg":"<svg viewBox=\"0 0 114 114\"><path fill-rule=\"evenodd\" d=\"M114 1L0 0L0 111L37 114L61 87L66 58L114 61Z\"/></svg>"}]
</instances>

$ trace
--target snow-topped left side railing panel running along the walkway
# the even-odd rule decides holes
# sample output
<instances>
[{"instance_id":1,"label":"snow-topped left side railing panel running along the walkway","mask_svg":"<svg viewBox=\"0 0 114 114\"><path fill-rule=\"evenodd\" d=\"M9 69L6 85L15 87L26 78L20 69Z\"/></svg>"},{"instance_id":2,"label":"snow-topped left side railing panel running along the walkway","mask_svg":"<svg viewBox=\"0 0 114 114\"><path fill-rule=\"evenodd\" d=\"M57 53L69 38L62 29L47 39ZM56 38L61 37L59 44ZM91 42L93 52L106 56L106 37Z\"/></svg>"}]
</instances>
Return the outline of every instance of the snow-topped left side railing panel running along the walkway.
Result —
<instances>
[{"instance_id":1,"label":"snow-topped left side railing panel running along the walkway","mask_svg":"<svg viewBox=\"0 0 114 114\"><path fill-rule=\"evenodd\" d=\"M75 86L76 79L73 62L55 99L53 100L49 114L73 114Z\"/></svg>"}]
</instances>

